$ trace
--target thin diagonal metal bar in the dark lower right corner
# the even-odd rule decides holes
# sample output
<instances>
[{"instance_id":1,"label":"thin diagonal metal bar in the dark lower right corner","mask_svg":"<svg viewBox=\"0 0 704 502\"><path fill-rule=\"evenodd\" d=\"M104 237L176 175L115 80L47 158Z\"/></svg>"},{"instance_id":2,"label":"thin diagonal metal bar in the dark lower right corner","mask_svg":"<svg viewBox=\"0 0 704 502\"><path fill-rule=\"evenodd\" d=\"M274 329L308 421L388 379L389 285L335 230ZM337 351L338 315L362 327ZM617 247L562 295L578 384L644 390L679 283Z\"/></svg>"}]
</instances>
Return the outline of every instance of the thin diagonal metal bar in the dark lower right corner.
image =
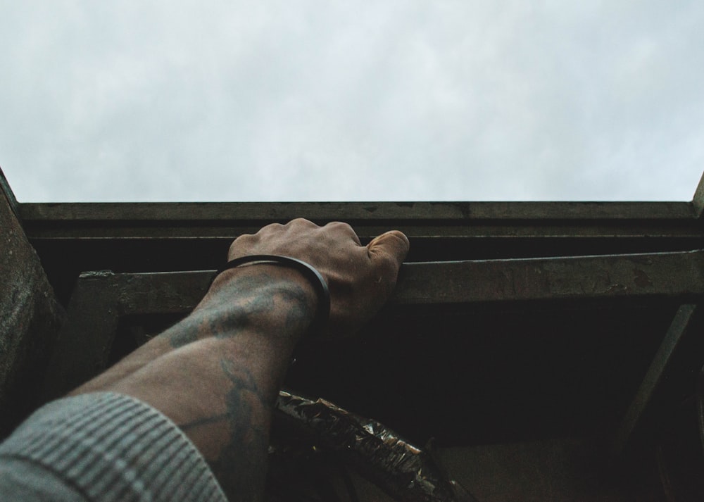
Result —
<instances>
[{"instance_id":1,"label":"thin diagonal metal bar in the dark lower right corner","mask_svg":"<svg viewBox=\"0 0 704 502\"><path fill-rule=\"evenodd\" d=\"M674 315L672 324L667 330L660 348L655 353L653 362L650 363L646 376L643 378L643 382L641 382L641 386L636 391L636 395L621 422L612 444L612 455L620 456L627 447L634 429L641 421L643 413L646 412L648 405L653 400L653 395L658 390L660 382L669 368L673 354L677 351L684 337L686 337L695 312L696 305L685 304L680 306Z\"/></svg>"}]
</instances>

